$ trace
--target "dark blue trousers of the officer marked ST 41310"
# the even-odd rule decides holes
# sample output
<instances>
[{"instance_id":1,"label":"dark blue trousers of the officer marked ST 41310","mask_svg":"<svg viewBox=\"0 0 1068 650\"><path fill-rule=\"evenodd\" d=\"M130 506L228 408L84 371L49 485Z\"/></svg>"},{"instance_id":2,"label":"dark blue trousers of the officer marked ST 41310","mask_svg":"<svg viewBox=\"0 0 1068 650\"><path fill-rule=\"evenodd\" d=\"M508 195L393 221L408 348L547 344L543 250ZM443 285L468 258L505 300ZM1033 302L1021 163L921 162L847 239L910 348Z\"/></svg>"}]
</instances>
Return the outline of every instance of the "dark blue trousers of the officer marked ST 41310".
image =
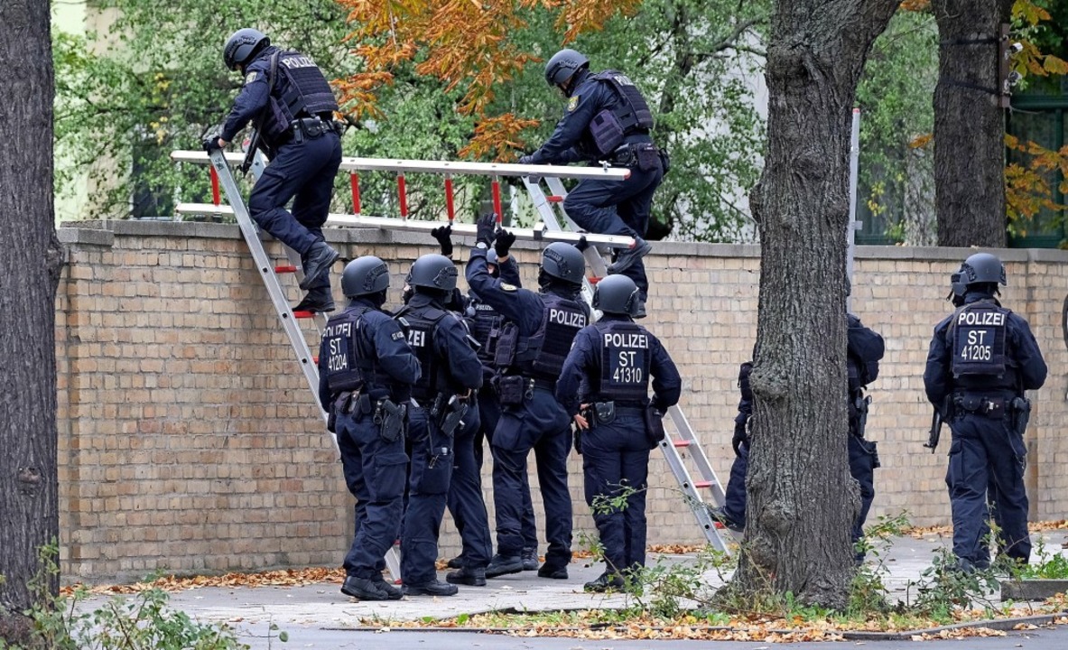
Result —
<instances>
[{"instance_id":1,"label":"dark blue trousers of the officer marked ST 41310","mask_svg":"<svg viewBox=\"0 0 1068 650\"><path fill-rule=\"evenodd\" d=\"M610 571L645 566L648 469L649 442L640 415L617 415L612 423L595 425L583 433L586 504L593 510ZM618 495L624 487L635 490L627 496L626 507L606 510L603 500Z\"/></svg>"}]
</instances>

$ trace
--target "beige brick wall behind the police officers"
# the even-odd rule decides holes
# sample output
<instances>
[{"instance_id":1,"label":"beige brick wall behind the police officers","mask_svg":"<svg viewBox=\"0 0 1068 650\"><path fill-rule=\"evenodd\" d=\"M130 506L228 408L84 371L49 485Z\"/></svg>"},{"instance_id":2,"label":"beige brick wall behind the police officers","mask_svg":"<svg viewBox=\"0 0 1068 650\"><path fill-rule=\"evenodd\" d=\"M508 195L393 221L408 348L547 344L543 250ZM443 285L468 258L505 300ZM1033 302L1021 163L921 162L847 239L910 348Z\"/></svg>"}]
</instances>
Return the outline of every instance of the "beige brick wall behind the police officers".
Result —
<instances>
[{"instance_id":1,"label":"beige brick wall behind the police officers","mask_svg":"<svg viewBox=\"0 0 1068 650\"><path fill-rule=\"evenodd\" d=\"M237 228L77 226L60 232L70 264L57 297L64 573L99 581L157 569L340 565L352 501ZM329 236L344 256L370 253L390 261L393 301L411 260L436 252L433 242L399 233ZM276 243L268 250L282 257ZM1000 253L1009 273L1005 304L1030 320L1051 367L1047 386L1034 396L1028 431L1032 514L1062 519L1068 514L1068 475L1057 471L1068 460L1061 330L1068 253ZM951 311L943 300L948 274L968 254L859 250L853 310L886 339L871 392L869 437L879 442L883 464L873 516L908 510L921 525L948 520L947 445L936 455L922 446L930 423L922 376L931 328ZM534 286L536 250L520 243L517 255L525 263L524 283ZM647 266L653 297L644 324L678 363L681 407L725 481L735 379L755 335L759 251L658 243ZM290 295L298 299L296 287ZM650 543L702 540L659 451L649 473ZM578 538L593 532L578 457L570 476ZM544 522L533 473L531 482ZM492 517L491 500L487 505ZM442 555L457 551L446 518Z\"/></svg>"}]
</instances>

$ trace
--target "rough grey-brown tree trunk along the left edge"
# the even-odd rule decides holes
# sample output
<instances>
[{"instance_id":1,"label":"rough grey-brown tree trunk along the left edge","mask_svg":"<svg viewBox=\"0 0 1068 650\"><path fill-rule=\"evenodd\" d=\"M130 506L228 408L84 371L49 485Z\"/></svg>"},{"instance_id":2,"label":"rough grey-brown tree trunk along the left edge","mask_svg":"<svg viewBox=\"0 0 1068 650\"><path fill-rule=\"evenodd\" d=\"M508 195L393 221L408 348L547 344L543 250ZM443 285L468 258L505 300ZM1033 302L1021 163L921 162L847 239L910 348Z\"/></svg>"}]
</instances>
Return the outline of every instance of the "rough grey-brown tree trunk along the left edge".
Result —
<instances>
[{"instance_id":1,"label":"rough grey-brown tree trunk along the left edge","mask_svg":"<svg viewBox=\"0 0 1068 650\"><path fill-rule=\"evenodd\" d=\"M58 592L27 581L59 535L52 50L48 0L0 2L0 609ZM2 617L2 614L0 614ZM0 621L2 622L2 621Z\"/></svg>"}]
</instances>

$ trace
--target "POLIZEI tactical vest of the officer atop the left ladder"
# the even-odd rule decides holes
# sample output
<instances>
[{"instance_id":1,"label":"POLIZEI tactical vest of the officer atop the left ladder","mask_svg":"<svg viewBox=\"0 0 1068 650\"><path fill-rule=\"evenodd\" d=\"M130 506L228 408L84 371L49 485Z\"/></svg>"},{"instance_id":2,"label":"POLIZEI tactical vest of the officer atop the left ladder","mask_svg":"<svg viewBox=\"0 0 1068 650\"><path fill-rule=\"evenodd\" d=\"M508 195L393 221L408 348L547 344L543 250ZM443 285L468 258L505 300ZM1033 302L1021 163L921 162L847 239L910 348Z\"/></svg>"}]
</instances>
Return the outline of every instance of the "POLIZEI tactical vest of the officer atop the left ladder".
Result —
<instances>
[{"instance_id":1,"label":"POLIZEI tactical vest of the officer atop the left ladder","mask_svg":"<svg viewBox=\"0 0 1068 650\"><path fill-rule=\"evenodd\" d=\"M273 62L272 62L273 63ZM270 67L276 92L270 96L270 115L261 128L268 142L277 142L299 117L319 115L331 120L337 110L333 90L323 70L310 57L296 51L283 51Z\"/></svg>"}]
</instances>

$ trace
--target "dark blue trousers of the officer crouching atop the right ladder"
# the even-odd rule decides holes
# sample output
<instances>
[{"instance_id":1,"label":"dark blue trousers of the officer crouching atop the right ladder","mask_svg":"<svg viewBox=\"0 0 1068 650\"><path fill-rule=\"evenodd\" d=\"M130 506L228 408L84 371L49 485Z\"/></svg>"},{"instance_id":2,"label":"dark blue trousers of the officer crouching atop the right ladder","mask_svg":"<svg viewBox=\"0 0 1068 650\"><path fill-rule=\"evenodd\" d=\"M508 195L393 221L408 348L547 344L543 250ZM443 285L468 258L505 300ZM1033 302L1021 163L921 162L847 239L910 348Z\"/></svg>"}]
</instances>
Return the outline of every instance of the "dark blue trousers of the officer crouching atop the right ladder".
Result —
<instances>
[{"instance_id":1,"label":"dark blue trousers of the officer crouching atop the right ladder","mask_svg":"<svg viewBox=\"0 0 1068 650\"><path fill-rule=\"evenodd\" d=\"M631 168L630 178L624 181L584 178L568 192L564 210L588 233L644 237L649 227L653 194L661 180L663 170L659 165L649 172ZM634 281L645 299L649 289L645 264L638 261L623 274Z\"/></svg>"}]
</instances>

